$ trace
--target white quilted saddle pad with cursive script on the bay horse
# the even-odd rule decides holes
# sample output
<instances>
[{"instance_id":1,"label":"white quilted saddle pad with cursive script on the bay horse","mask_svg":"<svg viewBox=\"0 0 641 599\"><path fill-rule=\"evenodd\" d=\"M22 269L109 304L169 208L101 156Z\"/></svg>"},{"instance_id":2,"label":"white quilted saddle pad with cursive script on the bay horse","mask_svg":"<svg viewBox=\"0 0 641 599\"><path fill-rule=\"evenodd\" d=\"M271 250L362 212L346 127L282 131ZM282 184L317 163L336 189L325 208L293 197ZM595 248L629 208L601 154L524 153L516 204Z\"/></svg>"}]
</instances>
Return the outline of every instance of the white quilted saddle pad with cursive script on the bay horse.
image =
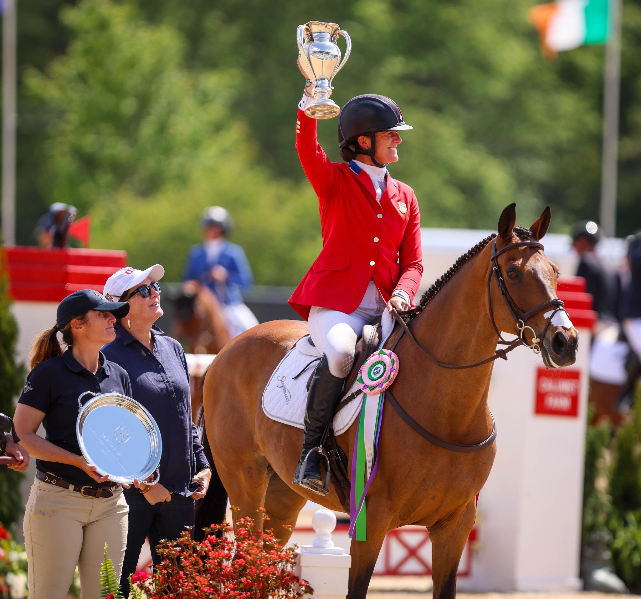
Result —
<instances>
[{"instance_id":1,"label":"white quilted saddle pad with cursive script on the bay horse","mask_svg":"<svg viewBox=\"0 0 641 599\"><path fill-rule=\"evenodd\" d=\"M382 324L383 330L381 331L379 348L383 347L383 343L387 341L394 325L394 320L387 312L383 314ZM318 361L312 361L314 357L320 357L320 352L316 347L310 345L308 337L305 336L285 354L285 357L276 366L276 370L272 373L265 391L263 391L263 411L269 418L290 424L298 429L303 428L307 403L307 381L318 363ZM304 372L294 379L294 376L303 368ZM345 396L353 393L357 388L358 382L354 382L351 389L346 390ZM334 416L333 428L337 435L344 433L351 427L360 412L362 402L363 395L359 395Z\"/></svg>"}]
</instances>

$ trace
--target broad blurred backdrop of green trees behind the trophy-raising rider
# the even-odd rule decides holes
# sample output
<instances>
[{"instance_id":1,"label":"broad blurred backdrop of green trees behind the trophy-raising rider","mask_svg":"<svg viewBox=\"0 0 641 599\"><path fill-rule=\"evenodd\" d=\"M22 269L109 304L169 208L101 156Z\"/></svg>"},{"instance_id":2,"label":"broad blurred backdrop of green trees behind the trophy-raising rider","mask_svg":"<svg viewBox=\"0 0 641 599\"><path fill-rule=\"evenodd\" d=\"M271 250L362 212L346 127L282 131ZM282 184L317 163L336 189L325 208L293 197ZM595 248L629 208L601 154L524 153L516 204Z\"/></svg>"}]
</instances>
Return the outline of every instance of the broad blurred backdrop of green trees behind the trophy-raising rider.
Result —
<instances>
[{"instance_id":1,"label":"broad blurred backdrop of green trees behind the trophy-raising rider","mask_svg":"<svg viewBox=\"0 0 641 599\"><path fill-rule=\"evenodd\" d=\"M390 171L415 188L425 226L494 227L516 201L526 220L552 204L553 230L567 230L598 215L604 49L547 62L526 20L533 3L328 0L310 13L264 0L60 0L58 22L55 0L21 4L34 32L42 15L51 29L46 49L25 53L22 97L39 125L29 129L38 162L21 163L29 171L19 190L37 178L44 201L90 211L96 242L119 240L142 262L181 262L198 238L197 213L222 204L237 220L235 240L251 246L257 281L296 283L297 258L291 267L270 261L300 254L308 265L320 248L294 149L294 31L317 18L353 40L336 101L386 94L415 126ZM641 0L624 4L619 234L641 222ZM319 138L340 160L336 129L336 119L321 122ZM146 218L136 227L133 215ZM171 238L151 241L170 229Z\"/></svg>"}]
</instances>

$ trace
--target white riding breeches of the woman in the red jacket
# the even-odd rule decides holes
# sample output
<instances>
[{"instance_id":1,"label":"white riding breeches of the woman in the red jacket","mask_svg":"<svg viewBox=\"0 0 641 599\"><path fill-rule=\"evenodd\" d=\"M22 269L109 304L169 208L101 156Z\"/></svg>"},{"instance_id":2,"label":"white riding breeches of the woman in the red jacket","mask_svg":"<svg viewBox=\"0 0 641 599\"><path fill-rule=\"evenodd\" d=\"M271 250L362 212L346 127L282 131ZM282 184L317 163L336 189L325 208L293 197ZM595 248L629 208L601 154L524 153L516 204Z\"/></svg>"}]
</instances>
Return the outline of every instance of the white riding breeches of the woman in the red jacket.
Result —
<instances>
[{"instance_id":1,"label":"white riding breeches of the woman in the red jacket","mask_svg":"<svg viewBox=\"0 0 641 599\"><path fill-rule=\"evenodd\" d=\"M312 306L307 320L310 336L319 351L327 356L329 372L344 378L354 363L356 340L363 326L385 311L385 300L374 281L370 281L360 306L352 313Z\"/></svg>"}]
</instances>

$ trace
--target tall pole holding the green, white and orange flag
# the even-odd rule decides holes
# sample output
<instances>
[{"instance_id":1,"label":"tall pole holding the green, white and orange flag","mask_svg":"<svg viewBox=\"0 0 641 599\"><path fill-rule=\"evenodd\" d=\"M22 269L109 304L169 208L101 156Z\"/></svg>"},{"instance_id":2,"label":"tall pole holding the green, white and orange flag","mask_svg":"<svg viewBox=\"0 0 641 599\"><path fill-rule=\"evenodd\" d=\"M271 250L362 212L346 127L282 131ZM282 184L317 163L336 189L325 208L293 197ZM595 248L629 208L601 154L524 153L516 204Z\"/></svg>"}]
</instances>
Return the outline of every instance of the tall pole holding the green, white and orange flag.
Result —
<instances>
[{"instance_id":1,"label":"tall pole holding the green, white and orange flag","mask_svg":"<svg viewBox=\"0 0 641 599\"><path fill-rule=\"evenodd\" d=\"M617 160L621 78L621 3L610 0L610 38L606 44L603 85L603 156L601 161L601 227L608 237L617 227Z\"/></svg>"}]
</instances>

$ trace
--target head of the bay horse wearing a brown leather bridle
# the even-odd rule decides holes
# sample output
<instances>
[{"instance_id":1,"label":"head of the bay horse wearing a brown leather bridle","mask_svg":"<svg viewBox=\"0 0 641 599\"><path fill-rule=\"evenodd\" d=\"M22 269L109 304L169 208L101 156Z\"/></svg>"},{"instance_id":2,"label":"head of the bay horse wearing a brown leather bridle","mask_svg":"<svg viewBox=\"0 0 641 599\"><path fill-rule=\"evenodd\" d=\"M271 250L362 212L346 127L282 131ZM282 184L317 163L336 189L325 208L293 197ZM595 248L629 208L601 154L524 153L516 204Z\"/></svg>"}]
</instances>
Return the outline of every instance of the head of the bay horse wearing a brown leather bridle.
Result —
<instances>
[{"instance_id":1,"label":"head of the bay horse wearing a brown leather bridle","mask_svg":"<svg viewBox=\"0 0 641 599\"><path fill-rule=\"evenodd\" d=\"M558 267L539 243L550 218L547 206L524 229L515 227L516 204L503 210L492 243L492 268L499 272L490 274L490 313L500 331L516 331L527 345L541 350L545 366L558 368L576 360L579 336L556 296Z\"/></svg>"}]
</instances>

